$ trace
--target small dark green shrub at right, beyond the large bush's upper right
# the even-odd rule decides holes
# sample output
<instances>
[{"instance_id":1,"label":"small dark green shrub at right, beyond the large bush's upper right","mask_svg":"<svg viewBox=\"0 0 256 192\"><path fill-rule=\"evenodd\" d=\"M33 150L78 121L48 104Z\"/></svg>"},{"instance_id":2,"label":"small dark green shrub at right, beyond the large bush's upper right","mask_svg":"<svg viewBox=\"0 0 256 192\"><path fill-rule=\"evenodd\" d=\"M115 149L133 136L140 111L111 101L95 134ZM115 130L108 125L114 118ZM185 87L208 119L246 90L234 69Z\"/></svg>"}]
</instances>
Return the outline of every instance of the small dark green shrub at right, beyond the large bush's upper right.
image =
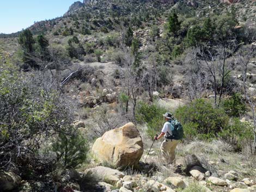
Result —
<instances>
[{"instance_id":1,"label":"small dark green shrub at right, beyond the large bush's upper right","mask_svg":"<svg viewBox=\"0 0 256 192\"><path fill-rule=\"evenodd\" d=\"M229 116L239 117L246 113L246 104L242 100L242 96L239 93L232 95L231 98L223 101L223 109Z\"/></svg>"}]
</instances>

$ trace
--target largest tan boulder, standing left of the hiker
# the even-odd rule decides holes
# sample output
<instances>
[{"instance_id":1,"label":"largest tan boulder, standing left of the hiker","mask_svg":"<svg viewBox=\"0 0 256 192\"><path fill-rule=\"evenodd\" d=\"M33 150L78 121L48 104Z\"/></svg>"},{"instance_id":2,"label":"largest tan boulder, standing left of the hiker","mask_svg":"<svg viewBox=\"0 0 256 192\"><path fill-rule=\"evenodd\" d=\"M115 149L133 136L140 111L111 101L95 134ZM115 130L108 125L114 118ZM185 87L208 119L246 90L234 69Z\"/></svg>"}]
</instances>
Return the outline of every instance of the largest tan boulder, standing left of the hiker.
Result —
<instances>
[{"instance_id":1,"label":"largest tan boulder, standing left of the hiker","mask_svg":"<svg viewBox=\"0 0 256 192\"><path fill-rule=\"evenodd\" d=\"M95 141L92 151L100 162L115 166L137 165L143 154L142 138L135 125L127 123L103 134Z\"/></svg>"}]
</instances>

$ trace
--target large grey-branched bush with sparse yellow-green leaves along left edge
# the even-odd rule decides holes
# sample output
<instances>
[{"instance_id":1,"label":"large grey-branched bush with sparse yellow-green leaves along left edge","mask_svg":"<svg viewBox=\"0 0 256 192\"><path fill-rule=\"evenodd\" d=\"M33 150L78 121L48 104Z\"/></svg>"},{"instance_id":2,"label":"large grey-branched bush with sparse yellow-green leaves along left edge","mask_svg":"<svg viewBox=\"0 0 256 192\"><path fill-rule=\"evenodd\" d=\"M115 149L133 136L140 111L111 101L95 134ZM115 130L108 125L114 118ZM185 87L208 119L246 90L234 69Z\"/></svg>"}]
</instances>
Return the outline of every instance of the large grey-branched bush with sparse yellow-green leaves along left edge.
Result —
<instances>
[{"instance_id":1,"label":"large grey-branched bush with sparse yellow-green leaves along left edge","mask_svg":"<svg viewBox=\"0 0 256 192\"><path fill-rule=\"evenodd\" d=\"M0 169L15 170L23 178L34 179L58 166L75 167L87 152L74 139L80 138L78 133L71 131L72 106L56 91L56 84L49 86L44 79L50 76L18 72L7 61L0 64ZM62 143L63 137L66 143ZM51 143L56 140L65 148L64 153L52 152ZM62 161L64 154L68 156Z\"/></svg>"}]
</instances>

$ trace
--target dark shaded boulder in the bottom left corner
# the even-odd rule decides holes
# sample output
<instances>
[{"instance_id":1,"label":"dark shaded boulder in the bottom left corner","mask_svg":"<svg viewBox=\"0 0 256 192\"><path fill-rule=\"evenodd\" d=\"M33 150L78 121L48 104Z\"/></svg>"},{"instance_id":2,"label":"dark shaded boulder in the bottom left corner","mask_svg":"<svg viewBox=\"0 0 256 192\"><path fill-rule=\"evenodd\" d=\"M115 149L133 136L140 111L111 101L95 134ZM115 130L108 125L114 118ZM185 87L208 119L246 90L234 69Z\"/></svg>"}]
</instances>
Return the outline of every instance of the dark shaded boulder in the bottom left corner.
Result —
<instances>
[{"instance_id":1,"label":"dark shaded boulder in the bottom left corner","mask_svg":"<svg viewBox=\"0 0 256 192\"><path fill-rule=\"evenodd\" d=\"M21 177L13 172L0 171L0 189L9 191L18 187L21 183Z\"/></svg>"}]
</instances>

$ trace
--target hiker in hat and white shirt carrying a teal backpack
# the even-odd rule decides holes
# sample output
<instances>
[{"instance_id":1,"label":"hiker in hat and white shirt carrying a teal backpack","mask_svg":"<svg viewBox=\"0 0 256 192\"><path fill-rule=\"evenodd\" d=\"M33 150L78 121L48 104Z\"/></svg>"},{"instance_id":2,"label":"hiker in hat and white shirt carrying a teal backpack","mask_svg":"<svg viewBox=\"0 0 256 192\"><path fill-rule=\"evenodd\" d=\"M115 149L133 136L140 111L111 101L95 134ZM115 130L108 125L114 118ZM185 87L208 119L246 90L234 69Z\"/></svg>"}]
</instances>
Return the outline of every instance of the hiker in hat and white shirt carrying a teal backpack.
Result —
<instances>
[{"instance_id":1,"label":"hiker in hat and white shirt carrying a teal backpack","mask_svg":"<svg viewBox=\"0 0 256 192\"><path fill-rule=\"evenodd\" d=\"M175 148L179 143L179 140L183 137L183 129L171 113L166 112L163 116L165 117L166 122L163 125L161 134L154 139L158 140L164 136L165 139L160 148L162 156L166 160L167 165L175 164Z\"/></svg>"}]
</instances>

